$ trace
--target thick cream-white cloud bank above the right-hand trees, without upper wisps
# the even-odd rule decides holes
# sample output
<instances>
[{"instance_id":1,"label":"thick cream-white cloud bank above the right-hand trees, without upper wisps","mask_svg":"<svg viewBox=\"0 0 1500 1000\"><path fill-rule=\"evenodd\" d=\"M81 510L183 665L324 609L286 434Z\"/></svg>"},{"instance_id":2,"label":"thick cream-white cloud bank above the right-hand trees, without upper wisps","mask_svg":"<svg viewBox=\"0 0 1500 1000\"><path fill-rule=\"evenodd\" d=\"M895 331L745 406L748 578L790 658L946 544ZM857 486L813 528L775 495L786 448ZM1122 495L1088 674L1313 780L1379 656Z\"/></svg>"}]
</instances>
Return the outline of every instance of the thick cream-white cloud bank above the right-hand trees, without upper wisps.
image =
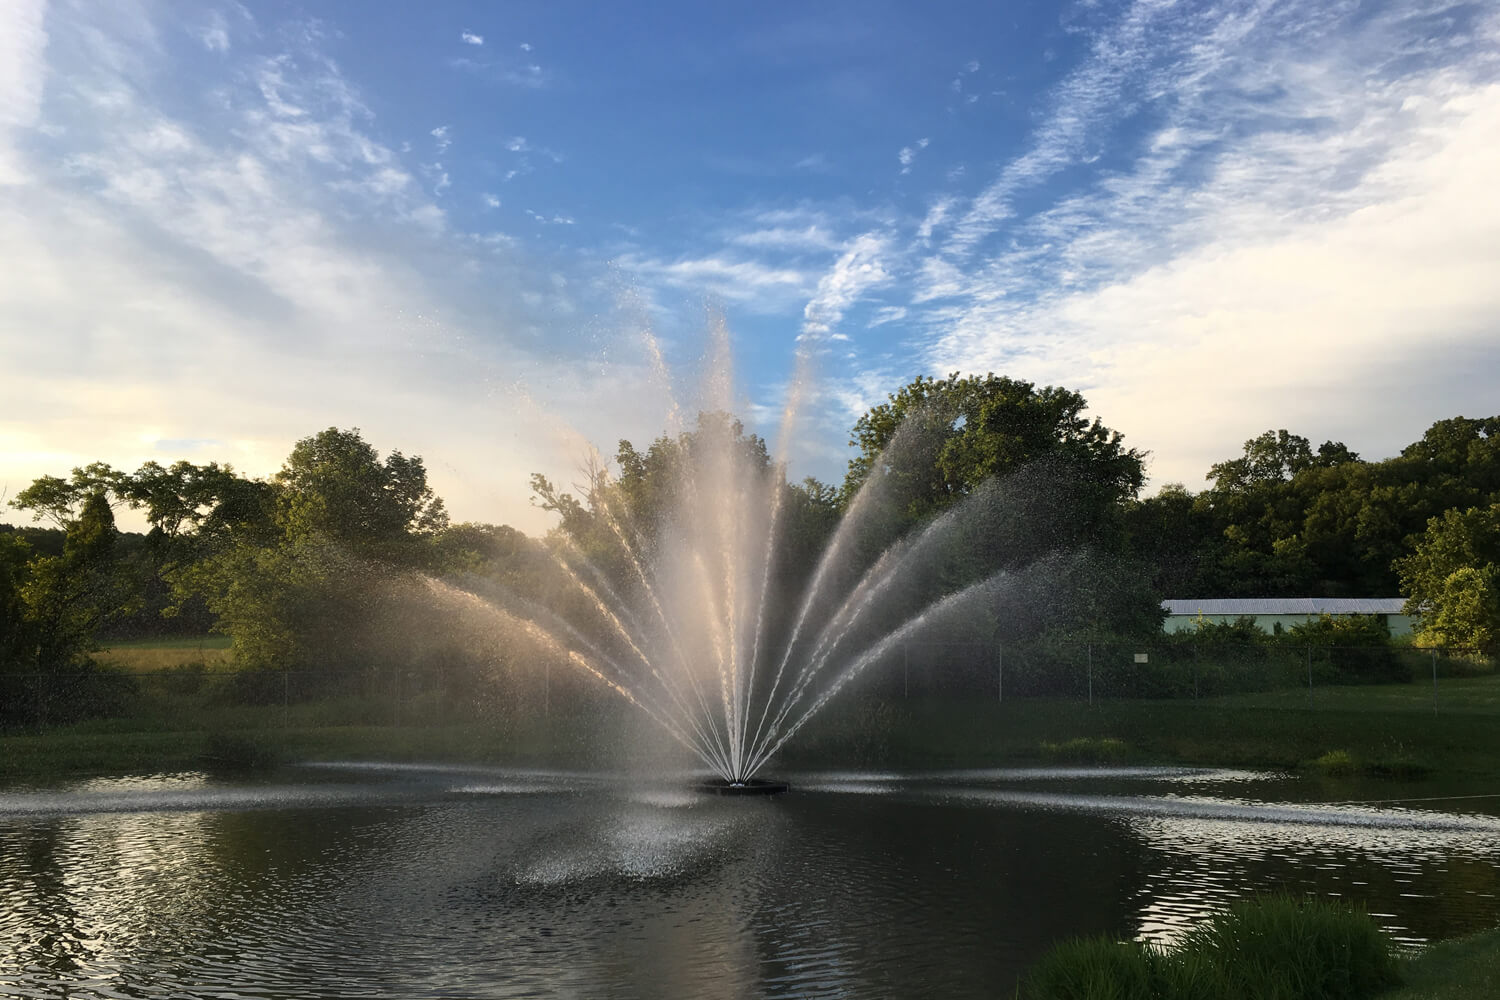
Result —
<instances>
[{"instance_id":1,"label":"thick cream-white cloud bank above the right-hand trees, without upper wisps","mask_svg":"<svg viewBox=\"0 0 1500 1000\"><path fill-rule=\"evenodd\" d=\"M1148 196L1152 157L1188 139L1156 136L1107 202L1114 228L1078 229L1065 207L1038 222L1064 241L1056 259L1119 261L1116 279L1011 301L1018 265L998 259L952 288L969 297L932 367L1084 388L1156 453L1155 481L1194 487L1266 427L1378 457L1442 417L1492 412L1500 82L1438 69L1372 87L1341 73L1324 64L1302 93L1358 93L1338 129L1257 136L1170 199ZM1360 165L1358 180L1341 160Z\"/></svg>"}]
</instances>

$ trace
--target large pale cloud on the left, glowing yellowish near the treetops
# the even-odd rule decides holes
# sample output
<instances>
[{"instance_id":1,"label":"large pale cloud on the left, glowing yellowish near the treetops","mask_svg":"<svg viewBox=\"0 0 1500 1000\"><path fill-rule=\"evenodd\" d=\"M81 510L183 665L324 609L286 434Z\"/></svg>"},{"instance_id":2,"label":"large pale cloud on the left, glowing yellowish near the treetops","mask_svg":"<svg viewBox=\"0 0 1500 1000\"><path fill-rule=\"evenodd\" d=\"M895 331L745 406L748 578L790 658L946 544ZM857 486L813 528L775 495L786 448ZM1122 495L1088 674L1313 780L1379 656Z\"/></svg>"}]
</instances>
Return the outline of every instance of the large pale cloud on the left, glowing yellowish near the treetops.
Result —
<instances>
[{"instance_id":1,"label":"large pale cloud on the left, glowing yellowish near the treetops","mask_svg":"<svg viewBox=\"0 0 1500 1000\"><path fill-rule=\"evenodd\" d=\"M156 73L160 52L138 58L96 21L50 15L66 61L24 78L12 49L39 40L0 31L3 124L48 120L68 139L0 192L0 483L178 457L264 475L297 438L360 426L423 454L456 516L536 531L526 474L567 481L578 453L518 378L597 439L660 429L639 372L576 366L566 331L492 291L532 282L549 315L576 309L572 286L512 265L504 234L446 234L332 61L298 49L208 69L224 100L186 120L166 109L182 81ZM12 78L48 79L45 99L15 100Z\"/></svg>"}]
</instances>

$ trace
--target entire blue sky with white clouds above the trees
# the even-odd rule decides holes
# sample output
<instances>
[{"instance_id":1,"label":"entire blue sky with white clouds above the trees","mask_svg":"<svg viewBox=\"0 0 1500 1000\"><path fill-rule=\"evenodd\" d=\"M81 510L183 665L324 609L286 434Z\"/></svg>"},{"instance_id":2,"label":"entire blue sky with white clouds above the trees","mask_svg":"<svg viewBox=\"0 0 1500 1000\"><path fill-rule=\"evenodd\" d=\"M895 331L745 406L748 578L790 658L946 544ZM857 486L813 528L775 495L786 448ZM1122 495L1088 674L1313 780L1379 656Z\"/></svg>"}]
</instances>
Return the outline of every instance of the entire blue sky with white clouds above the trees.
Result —
<instances>
[{"instance_id":1,"label":"entire blue sky with white clouds above the trees","mask_svg":"<svg viewBox=\"0 0 1500 1000\"><path fill-rule=\"evenodd\" d=\"M0 492L357 426L536 531L716 315L768 436L814 363L794 475L954 370L1155 484L1384 457L1500 412L1496 178L1492 3L6 0Z\"/></svg>"}]
</instances>

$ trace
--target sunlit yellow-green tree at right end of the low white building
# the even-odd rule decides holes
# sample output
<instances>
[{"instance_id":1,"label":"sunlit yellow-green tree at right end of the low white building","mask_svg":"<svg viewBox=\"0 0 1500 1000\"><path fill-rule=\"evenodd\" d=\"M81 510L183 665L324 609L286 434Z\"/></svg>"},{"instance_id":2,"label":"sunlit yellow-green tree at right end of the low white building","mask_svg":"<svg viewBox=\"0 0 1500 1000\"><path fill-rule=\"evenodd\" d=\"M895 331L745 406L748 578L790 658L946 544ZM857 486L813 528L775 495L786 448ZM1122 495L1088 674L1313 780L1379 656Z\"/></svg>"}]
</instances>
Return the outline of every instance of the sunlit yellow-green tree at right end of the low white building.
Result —
<instances>
[{"instance_id":1,"label":"sunlit yellow-green tree at right end of the low white building","mask_svg":"<svg viewBox=\"0 0 1500 1000\"><path fill-rule=\"evenodd\" d=\"M1396 559L1418 640L1485 652L1500 636L1500 504L1449 510L1426 523L1416 550Z\"/></svg>"}]
</instances>

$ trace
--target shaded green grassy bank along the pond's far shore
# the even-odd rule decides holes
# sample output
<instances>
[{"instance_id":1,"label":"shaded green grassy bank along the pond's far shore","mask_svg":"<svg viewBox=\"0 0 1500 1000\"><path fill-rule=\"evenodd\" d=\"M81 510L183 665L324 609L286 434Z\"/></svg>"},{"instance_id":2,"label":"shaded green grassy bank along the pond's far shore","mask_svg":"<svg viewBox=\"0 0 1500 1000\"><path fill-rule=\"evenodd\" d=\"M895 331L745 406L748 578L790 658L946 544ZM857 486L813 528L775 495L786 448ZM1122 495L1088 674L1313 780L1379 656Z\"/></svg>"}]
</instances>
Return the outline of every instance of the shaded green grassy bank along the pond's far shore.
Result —
<instances>
[{"instance_id":1,"label":"shaded green grassy bank along the pond's far shore","mask_svg":"<svg viewBox=\"0 0 1500 1000\"><path fill-rule=\"evenodd\" d=\"M118 718L0 736L0 780L192 766L208 733L240 733L284 759L518 760L586 763L630 750L597 733L616 708L472 705L387 694L234 705L200 681L152 688ZM273 693L274 694L274 693ZM1050 699L834 702L783 748L782 768L966 768L1042 763L1179 763L1473 783L1500 781L1500 676L1448 681L1440 714L1413 685L1244 694L1212 700ZM620 718L633 718L624 708ZM634 741L642 742L642 741Z\"/></svg>"}]
</instances>

